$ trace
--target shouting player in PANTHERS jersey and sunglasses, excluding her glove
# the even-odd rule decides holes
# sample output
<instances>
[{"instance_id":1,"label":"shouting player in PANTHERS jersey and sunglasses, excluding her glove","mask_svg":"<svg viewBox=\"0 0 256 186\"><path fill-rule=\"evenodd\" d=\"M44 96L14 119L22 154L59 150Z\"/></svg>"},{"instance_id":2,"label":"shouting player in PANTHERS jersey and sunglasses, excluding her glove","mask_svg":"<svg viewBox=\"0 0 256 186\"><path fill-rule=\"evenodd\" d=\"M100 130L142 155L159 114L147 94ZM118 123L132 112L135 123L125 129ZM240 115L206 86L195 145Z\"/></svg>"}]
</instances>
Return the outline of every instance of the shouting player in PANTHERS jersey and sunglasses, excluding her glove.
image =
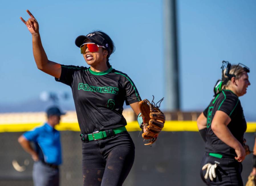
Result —
<instances>
[{"instance_id":1,"label":"shouting player in PANTHERS jersey and sunglasses, excluding her glove","mask_svg":"<svg viewBox=\"0 0 256 186\"><path fill-rule=\"evenodd\" d=\"M21 18L32 34L33 54L38 69L70 86L82 140L84 185L122 185L134 161L135 146L126 131L123 103L139 114L141 98L127 74L110 66L113 41L104 32L78 36L75 44L90 68L66 66L49 61L40 40L38 23L27 10Z\"/></svg>"}]
</instances>

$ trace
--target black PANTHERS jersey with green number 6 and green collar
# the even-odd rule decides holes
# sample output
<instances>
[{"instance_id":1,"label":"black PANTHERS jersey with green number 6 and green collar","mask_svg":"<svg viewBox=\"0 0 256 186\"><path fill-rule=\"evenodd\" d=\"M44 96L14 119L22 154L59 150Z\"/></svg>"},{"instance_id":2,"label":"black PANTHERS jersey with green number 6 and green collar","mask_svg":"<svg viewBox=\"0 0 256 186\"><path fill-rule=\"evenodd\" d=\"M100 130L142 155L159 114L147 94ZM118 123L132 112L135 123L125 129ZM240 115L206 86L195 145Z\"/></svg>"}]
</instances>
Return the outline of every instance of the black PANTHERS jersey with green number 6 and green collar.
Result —
<instances>
[{"instance_id":1,"label":"black PANTHERS jersey with green number 6 and green collar","mask_svg":"<svg viewBox=\"0 0 256 186\"><path fill-rule=\"evenodd\" d=\"M78 124L83 134L127 125L122 115L126 105L141 101L127 74L110 67L104 72L90 68L61 65L56 81L72 89Z\"/></svg>"}]
</instances>

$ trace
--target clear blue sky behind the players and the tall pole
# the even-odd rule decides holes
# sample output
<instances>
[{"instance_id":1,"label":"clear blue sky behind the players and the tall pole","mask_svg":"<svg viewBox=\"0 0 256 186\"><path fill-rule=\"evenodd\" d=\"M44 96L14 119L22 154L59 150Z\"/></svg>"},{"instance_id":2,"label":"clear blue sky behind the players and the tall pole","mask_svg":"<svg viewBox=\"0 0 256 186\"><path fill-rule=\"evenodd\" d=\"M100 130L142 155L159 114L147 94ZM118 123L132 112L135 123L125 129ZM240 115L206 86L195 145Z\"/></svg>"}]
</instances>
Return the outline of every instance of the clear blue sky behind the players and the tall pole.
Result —
<instances>
[{"instance_id":1,"label":"clear blue sky behind the players and the tall pole","mask_svg":"<svg viewBox=\"0 0 256 186\"><path fill-rule=\"evenodd\" d=\"M165 96L162 0L25 0L5 1L0 7L0 105L36 99L43 91L71 94L70 87L37 70L31 34L19 19L29 18L26 9L39 23L49 60L87 66L74 40L102 30L116 46L110 57L113 68L131 77L143 99L151 99L152 94L156 99ZM177 1L182 110L201 111L208 105L213 86L221 77L221 62L227 60L251 69L251 86L240 100L245 116L254 115L255 9L253 0Z\"/></svg>"}]
</instances>

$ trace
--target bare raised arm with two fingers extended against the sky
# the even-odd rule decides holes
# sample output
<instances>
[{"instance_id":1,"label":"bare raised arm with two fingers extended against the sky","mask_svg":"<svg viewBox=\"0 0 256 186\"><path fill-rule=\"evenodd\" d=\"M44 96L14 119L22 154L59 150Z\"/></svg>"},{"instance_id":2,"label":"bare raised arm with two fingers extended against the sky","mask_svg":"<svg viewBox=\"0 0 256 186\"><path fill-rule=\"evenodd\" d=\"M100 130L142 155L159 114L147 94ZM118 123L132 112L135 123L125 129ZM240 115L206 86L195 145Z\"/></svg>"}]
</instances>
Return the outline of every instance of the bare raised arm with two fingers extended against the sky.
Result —
<instances>
[{"instance_id":1,"label":"bare raised arm with two fingers extended against the sky","mask_svg":"<svg viewBox=\"0 0 256 186\"><path fill-rule=\"evenodd\" d=\"M31 18L28 21L25 21L20 17L21 21L26 24L29 32L32 34L32 46L33 46L33 55L36 62L36 66L39 70L42 70L45 73L48 73L56 78L60 78L61 66L58 63L48 60L44 48L42 46L40 34L39 34L39 25L34 16L27 10L27 13Z\"/></svg>"}]
</instances>

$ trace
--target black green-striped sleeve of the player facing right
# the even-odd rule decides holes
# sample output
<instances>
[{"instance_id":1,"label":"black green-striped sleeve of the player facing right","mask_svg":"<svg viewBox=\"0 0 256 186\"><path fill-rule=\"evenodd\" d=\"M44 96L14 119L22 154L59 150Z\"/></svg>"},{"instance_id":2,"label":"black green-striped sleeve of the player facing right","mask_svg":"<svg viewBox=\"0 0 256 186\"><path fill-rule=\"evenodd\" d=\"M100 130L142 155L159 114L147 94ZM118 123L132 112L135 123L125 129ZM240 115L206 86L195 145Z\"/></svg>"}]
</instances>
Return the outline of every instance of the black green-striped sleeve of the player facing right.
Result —
<instances>
[{"instance_id":1,"label":"black green-striped sleeve of the player facing right","mask_svg":"<svg viewBox=\"0 0 256 186\"><path fill-rule=\"evenodd\" d=\"M239 102L238 97L226 95L223 100L219 101L218 111L223 111L230 116Z\"/></svg>"}]
</instances>

